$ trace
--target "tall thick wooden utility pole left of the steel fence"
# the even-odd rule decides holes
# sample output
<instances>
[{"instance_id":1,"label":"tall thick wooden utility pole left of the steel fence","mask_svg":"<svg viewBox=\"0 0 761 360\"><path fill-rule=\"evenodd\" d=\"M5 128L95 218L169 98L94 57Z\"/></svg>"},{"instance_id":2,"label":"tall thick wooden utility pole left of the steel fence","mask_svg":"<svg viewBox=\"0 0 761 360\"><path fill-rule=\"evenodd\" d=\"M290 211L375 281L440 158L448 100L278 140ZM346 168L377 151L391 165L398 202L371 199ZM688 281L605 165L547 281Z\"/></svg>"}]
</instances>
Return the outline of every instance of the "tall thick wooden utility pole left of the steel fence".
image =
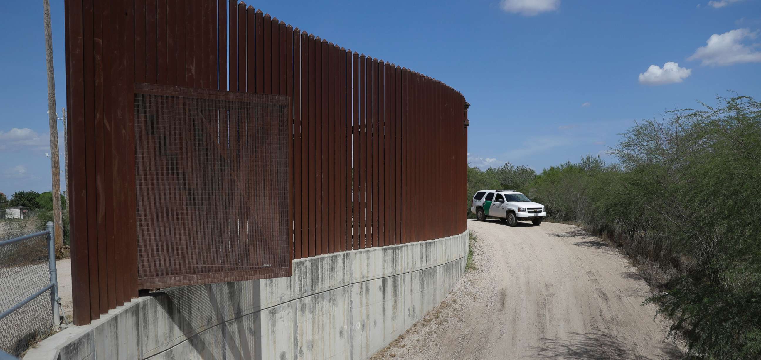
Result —
<instances>
[{"instance_id":1,"label":"tall thick wooden utility pole left of the steel fence","mask_svg":"<svg viewBox=\"0 0 761 360\"><path fill-rule=\"evenodd\" d=\"M58 116L56 116L56 78L53 76L53 30L50 29L50 1L43 0L45 11L45 60L48 73L48 118L50 124L50 174L53 177L53 225L56 231L56 253L63 247L61 221L61 170L58 158Z\"/></svg>"}]
</instances>

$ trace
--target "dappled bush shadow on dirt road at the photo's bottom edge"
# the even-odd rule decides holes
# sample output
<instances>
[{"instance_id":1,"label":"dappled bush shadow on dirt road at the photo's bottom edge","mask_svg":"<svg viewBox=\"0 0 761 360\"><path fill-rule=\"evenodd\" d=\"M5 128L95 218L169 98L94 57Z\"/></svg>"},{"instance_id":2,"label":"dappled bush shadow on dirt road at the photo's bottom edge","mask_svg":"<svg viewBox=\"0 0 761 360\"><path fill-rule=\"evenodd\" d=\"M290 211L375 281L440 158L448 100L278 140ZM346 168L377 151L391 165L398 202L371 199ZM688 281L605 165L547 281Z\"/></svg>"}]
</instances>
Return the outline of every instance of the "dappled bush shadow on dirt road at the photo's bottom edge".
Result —
<instances>
[{"instance_id":1,"label":"dappled bush shadow on dirt road at the photo's bottom edge","mask_svg":"<svg viewBox=\"0 0 761 360\"><path fill-rule=\"evenodd\" d=\"M557 337L541 338L541 346L531 346L529 358L568 358L595 360L649 360L640 355L635 346L616 339L607 333L571 333L568 339ZM661 346L667 358L681 358L682 352L669 343Z\"/></svg>"}]
</instances>

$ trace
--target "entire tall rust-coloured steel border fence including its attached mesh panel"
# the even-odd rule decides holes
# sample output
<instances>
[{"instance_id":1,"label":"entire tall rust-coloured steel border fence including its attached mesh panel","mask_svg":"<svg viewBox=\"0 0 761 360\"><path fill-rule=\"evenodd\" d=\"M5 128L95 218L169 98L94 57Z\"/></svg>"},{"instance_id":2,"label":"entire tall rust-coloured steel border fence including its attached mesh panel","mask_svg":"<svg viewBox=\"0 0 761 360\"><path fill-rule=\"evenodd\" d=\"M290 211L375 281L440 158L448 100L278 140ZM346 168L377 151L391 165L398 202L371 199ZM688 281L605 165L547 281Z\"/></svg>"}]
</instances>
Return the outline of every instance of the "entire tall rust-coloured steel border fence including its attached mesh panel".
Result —
<instances>
[{"instance_id":1,"label":"entire tall rust-coloured steel border fence including its attached mesh panel","mask_svg":"<svg viewBox=\"0 0 761 360\"><path fill-rule=\"evenodd\" d=\"M441 81L236 0L66 0L65 14L75 323L97 319L139 288L288 276L290 259L465 231L458 209L466 198L466 101ZM151 88L174 88L189 100L162 109L155 105L167 99L148 99ZM242 93L259 102L249 109L203 100ZM268 121L282 122L285 154L223 155L240 139L282 145L275 135L254 135L265 123L253 109L279 99L289 101L288 112ZM194 118L198 107L215 115ZM154 115L163 135L151 132ZM239 137L242 123L252 133ZM203 136L191 129L200 125L208 128ZM181 135L175 145L195 139L197 147L155 147L155 136L173 129ZM209 174L162 179L178 166ZM161 202L167 196L184 201ZM183 228L186 212L210 217ZM266 239L260 228L244 237L237 222L247 218L275 235ZM209 238L214 231L218 239ZM234 241L253 244L234 250ZM287 264L275 256L284 251Z\"/></svg>"}]
</instances>

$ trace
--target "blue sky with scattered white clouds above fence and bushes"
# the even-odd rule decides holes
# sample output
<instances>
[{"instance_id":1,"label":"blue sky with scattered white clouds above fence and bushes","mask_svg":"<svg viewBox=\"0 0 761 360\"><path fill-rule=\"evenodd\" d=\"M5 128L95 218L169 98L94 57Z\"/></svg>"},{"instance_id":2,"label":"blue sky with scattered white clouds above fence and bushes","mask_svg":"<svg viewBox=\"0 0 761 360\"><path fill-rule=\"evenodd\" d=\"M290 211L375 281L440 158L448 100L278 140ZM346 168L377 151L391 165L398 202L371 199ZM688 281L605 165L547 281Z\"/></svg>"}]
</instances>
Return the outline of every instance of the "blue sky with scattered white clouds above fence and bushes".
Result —
<instances>
[{"instance_id":1,"label":"blue sky with scattered white clouds above fence and bushes","mask_svg":"<svg viewBox=\"0 0 761 360\"><path fill-rule=\"evenodd\" d=\"M51 0L59 109L62 4ZM608 158L636 119L728 90L761 98L761 0L249 4L462 92L471 104L470 164L479 167ZM46 191L42 2L2 2L0 14L0 192Z\"/></svg>"}]
</instances>

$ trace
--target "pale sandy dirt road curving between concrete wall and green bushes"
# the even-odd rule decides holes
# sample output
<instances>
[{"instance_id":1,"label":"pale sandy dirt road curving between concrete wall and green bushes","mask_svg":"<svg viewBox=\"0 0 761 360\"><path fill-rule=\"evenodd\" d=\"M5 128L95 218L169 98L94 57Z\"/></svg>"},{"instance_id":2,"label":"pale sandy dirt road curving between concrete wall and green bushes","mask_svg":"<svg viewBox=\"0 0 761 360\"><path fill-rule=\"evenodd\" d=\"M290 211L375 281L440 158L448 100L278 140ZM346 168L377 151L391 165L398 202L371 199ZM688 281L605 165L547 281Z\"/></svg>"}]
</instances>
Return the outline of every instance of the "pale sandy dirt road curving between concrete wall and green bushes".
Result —
<instances>
[{"instance_id":1,"label":"pale sandy dirt road curving between concrete wall and green bushes","mask_svg":"<svg viewBox=\"0 0 761 360\"><path fill-rule=\"evenodd\" d=\"M374 359L663 359L650 295L626 259L573 225L468 221L478 269Z\"/></svg>"}]
</instances>

